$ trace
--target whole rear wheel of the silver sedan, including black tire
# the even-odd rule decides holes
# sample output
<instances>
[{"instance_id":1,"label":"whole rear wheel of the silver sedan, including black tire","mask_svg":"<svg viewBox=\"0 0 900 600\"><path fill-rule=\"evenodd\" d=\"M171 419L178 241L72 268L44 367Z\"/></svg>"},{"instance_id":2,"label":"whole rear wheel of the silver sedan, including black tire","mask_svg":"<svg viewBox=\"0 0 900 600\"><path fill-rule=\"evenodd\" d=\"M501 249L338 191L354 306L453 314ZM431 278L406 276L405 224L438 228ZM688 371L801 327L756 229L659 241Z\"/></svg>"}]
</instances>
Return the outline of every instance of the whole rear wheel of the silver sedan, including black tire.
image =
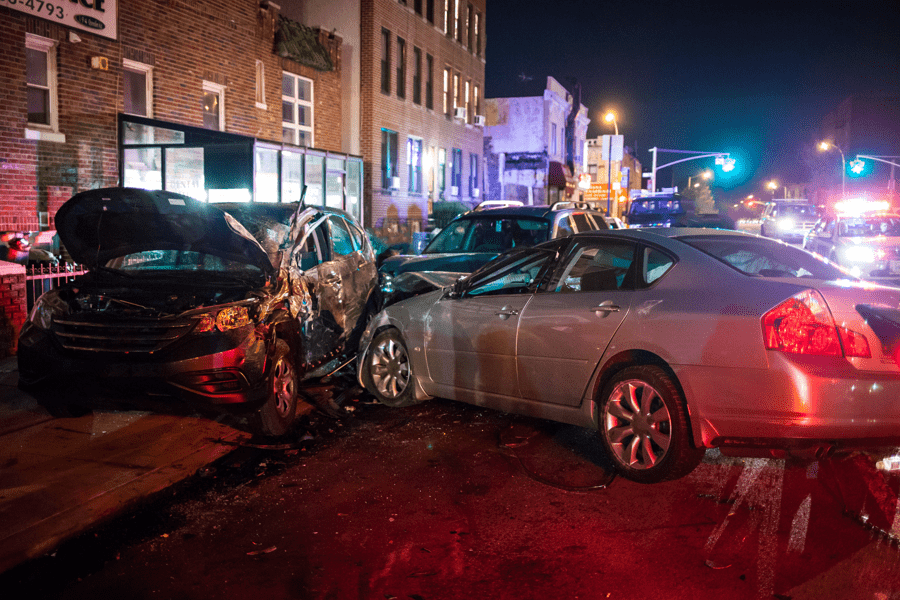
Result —
<instances>
[{"instance_id":1,"label":"whole rear wheel of the silver sedan, including black tire","mask_svg":"<svg viewBox=\"0 0 900 600\"><path fill-rule=\"evenodd\" d=\"M638 483L684 477L705 453L694 447L684 397L656 366L617 373L603 390L597 424L616 472Z\"/></svg>"}]
</instances>

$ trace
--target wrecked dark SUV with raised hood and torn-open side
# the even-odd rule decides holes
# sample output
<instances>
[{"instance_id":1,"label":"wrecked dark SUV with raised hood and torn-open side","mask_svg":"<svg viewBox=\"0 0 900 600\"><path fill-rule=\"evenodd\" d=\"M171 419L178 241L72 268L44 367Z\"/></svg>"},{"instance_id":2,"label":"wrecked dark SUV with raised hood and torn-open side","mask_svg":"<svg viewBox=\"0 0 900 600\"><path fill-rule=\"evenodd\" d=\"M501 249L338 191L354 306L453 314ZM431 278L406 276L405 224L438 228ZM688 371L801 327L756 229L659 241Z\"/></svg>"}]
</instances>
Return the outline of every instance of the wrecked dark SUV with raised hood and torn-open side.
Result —
<instances>
[{"instance_id":1,"label":"wrecked dark SUV with raised hood and torn-open side","mask_svg":"<svg viewBox=\"0 0 900 600\"><path fill-rule=\"evenodd\" d=\"M254 409L281 435L302 382L352 356L378 310L374 253L339 210L108 188L75 195L56 222L89 272L43 294L23 326L26 388L84 380Z\"/></svg>"}]
</instances>

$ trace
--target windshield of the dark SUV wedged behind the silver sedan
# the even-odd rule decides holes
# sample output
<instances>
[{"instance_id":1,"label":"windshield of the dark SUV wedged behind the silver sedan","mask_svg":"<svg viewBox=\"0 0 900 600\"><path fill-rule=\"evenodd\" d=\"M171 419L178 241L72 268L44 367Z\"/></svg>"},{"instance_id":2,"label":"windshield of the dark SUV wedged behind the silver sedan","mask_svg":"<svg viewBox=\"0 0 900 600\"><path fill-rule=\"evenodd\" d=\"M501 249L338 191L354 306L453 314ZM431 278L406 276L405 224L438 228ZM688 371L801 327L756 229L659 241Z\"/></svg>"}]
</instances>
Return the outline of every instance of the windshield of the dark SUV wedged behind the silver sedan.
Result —
<instances>
[{"instance_id":1,"label":"windshield of the dark SUV wedged behind the silver sedan","mask_svg":"<svg viewBox=\"0 0 900 600\"><path fill-rule=\"evenodd\" d=\"M482 215L453 221L431 240L423 254L499 253L519 246L534 246L549 238L548 221Z\"/></svg>"}]
</instances>

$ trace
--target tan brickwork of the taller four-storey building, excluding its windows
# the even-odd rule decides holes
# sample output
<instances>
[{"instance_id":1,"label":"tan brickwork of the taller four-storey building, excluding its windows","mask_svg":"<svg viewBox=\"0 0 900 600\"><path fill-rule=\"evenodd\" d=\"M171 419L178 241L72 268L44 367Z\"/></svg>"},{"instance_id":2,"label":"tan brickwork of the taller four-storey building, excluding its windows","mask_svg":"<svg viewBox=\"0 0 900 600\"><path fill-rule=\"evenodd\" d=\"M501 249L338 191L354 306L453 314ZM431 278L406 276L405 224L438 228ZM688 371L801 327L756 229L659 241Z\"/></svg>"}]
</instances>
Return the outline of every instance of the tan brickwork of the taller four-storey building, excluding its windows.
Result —
<instances>
[{"instance_id":1,"label":"tan brickwork of the taller four-storey building, excluding its windows","mask_svg":"<svg viewBox=\"0 0 900 600\"><path fill-rule=\"evenodd\" d=\"M473 2L482 14L482 48L485 44L484 14L485 2ZM471 82L470 94L475 85L484 107L484 52L476 54L463 44L450 39L443 33L443 3L435 2L435 23L429 23L413 10L414 3L406 5L396 0L362 0L361 2L361 144L364 159L366 184L364 202L366 206L365 224L376 234L391 243L408 241L413 232L421 231L427 223L434 202L441 200L460 201L474 205L479 198L469 194L470 155L478 156L479 179L483 175L483 135L481 127L472 123L464 124L443 114L443 70L448 67L458 73L462 81ZM463 7L466 3L463 3ZM391 34L391 92L381 91L381 31ZM406 97L397 96L397 37L405 40L407 50ZM434 57L432 73L433 108L425 105L424 79L422 82L422 104L413 102L413 48L422 50L423 71L425 56ZM460 85L462 88L462 84ZM462 93L462 90L461 90ZM460 103L461 105L462 103ZM471 106L471 105L470 105ZM470 114L474 114L474 107ZM471 121L471 118L470 118ZM397 132L398 171L400 188L384 190L381 183L381 130ZM436 165L437 150L447 151L446 180L448 190L442 194L435 189L429 194L429 165L423 164L423 193L410 193L409 170L406 163L406 142L409 137L422 140L425 157L431 157L431 165ZM449 195L449 162L453 148L463 151L462 185L457 196ZM424 160L423 160L424 162Z\"/></svg>"}]
</instances>

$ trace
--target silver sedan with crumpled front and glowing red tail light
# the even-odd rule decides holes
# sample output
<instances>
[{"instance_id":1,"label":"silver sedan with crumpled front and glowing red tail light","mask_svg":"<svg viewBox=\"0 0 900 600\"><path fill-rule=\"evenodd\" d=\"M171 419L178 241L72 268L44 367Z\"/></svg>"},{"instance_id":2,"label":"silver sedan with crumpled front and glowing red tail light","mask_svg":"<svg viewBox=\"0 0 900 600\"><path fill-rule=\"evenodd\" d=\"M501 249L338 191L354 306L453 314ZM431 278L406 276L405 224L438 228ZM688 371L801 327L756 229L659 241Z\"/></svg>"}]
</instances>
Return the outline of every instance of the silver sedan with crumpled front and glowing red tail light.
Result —
<instances>
[{"instance_id":1,"label":"silver sedan with crumpled front and glowing red tail light","mask_svg":"<svg viewBox=\"0 0 900 600\"><path fill-rule=\"evenodd\" d=\"M715 229L576 234L498 257L370 323L360 382L599 431L652 483L705 449L826 456L900 443L900 289Z\"/></svg>"}]
</instances>

